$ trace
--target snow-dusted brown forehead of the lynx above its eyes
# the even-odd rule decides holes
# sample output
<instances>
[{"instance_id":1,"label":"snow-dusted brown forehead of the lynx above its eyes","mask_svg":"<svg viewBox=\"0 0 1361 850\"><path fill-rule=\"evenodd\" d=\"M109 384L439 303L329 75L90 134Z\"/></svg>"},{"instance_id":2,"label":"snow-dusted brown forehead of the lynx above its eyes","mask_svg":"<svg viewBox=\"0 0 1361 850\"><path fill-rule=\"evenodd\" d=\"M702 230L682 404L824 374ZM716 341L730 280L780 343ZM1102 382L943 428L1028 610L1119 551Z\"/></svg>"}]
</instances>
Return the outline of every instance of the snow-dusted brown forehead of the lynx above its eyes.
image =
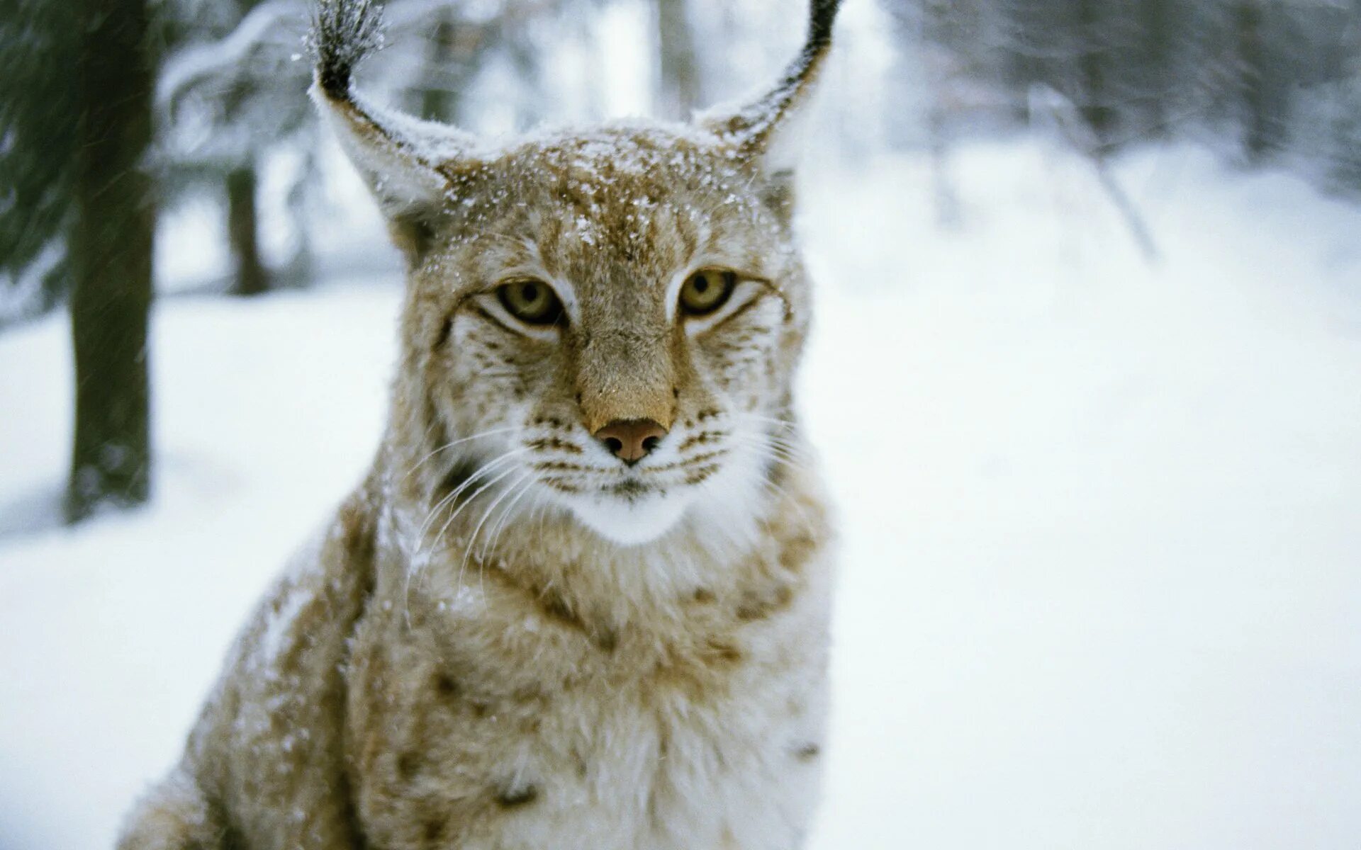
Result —
<instances>
[{"instance_id":1,"label":"snow-dusted brown forehead of the lynx above its eyes","mask_svg":"<svg viewBox=\"0 0 1361 850\"><path fill-rule=\"evenodd\" d=\"M633 291L671 321L667 288L700 258L800 283L787 222L772 207L780 199L755 192L764 177L713 136L607 126L546 135L440 171L446 200L415 267L431 288L463 290L534 265L565 290L569 314Z\"/></svg>"}]
</instances>

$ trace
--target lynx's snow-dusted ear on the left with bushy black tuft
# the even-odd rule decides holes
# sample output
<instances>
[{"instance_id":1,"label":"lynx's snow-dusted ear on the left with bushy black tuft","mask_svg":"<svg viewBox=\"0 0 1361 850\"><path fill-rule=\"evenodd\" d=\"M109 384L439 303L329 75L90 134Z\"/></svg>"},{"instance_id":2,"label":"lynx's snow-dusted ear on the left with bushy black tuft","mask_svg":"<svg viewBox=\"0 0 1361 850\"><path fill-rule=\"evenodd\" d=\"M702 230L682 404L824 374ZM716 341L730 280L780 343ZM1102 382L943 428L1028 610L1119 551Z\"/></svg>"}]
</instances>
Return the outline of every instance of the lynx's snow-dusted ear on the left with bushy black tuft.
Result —
<instances>
[{"instance_id":1,"label":"lynx's snow-dusted ear on the left with bushy black tuft","mask_svg":"<svg viewBox=\"0 0 1361 850\"><path fill-rule=\"evenodd\" d=\"M395 239L419 249L429 219L448 197L441 166L463 156L471 140L455 128L370 105L354 91L355 65L381 42L378 7L370 0L320 0L312 29L317 61L312 99L377 199Z\"/></svg>"}]
</instances>

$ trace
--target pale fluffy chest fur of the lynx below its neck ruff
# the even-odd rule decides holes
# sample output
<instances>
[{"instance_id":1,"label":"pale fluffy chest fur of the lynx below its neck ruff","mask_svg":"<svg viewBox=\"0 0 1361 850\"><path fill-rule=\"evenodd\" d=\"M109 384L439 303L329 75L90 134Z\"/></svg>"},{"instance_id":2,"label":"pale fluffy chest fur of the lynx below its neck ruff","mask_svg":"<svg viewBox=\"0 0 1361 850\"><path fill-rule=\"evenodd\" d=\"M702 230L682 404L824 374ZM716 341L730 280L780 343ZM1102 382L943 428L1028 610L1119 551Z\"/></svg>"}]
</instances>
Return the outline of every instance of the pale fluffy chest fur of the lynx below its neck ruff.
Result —
<instances>
[{"instance_id":1,"label":"pale fluffy chest fur of the lynx below its neck ruff","mask_svg":"<svg viewBox=\"0 0 1361 850\"><path fill-rule=\"evenodd\" d=\"M366 834L392 850L799 847L826 714L822 560L619 627L499 570L456 598L404 590L361 624L348 677Z\"/></svg>"}]
</instances>

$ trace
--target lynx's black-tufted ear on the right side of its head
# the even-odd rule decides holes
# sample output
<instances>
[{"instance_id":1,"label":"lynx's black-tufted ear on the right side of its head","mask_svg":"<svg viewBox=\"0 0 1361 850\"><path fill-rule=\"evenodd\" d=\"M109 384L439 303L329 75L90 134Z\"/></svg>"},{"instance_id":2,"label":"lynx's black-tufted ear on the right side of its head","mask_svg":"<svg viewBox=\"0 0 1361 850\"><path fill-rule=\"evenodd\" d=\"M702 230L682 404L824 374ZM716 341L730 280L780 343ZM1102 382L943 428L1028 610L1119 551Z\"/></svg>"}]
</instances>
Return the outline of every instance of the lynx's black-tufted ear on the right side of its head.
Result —
<instances>
[{"instance_id":1,"label":"lynx's black-tufted ear on the right side of its head","mask_svg":"<svg viewBox=\"0 0 1361 850\"><path fill-rule=\"evenodd\" d=\"M739 109L717 107L698 116L705 129L757 159L773 181L791 181L799 160L799 128L822 65L832 49L832 24L841 0L811 0L803 50L774 88Z\"/></svg>"}]
</instances>

